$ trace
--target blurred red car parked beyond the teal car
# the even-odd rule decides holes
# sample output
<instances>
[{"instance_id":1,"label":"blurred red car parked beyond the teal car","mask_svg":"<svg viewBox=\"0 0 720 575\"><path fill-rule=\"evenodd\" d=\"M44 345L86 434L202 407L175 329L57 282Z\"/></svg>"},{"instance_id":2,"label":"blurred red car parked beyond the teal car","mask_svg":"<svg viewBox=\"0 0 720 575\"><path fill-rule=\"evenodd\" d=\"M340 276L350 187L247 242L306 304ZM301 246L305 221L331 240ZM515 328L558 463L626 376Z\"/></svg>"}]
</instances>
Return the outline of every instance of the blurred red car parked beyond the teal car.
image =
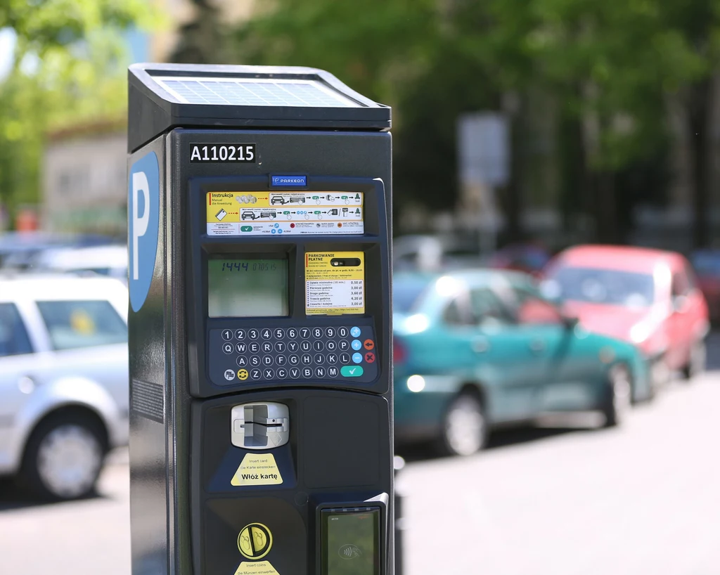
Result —
<instances>
[{"instance_id":1,"label":"blurred red car parked beyond the teal car","mask_svg":"<svg viewBox=\"0 0 720 575\"><path fill-rule=\"evenodd\" d=\"M637 345L651 362L654 384L672 370L686 379L705 367L708 306L695 275L675 252L579 245L544 271L544 291L592 332Z\"/></svg>"}]
</instances>

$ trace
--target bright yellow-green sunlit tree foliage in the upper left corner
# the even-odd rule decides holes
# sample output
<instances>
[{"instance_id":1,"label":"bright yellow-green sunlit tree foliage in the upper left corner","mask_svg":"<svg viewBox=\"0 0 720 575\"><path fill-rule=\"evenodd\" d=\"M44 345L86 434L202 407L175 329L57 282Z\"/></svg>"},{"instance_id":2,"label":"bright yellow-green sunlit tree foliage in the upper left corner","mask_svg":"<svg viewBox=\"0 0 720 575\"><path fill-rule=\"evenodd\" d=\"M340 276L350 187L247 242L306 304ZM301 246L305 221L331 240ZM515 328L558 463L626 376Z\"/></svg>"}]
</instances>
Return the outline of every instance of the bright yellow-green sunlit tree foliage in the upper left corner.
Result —
<instances>
[{"instance_id":1,"label":"bright yellow-green sunlit tree foliage in the upper left corner","mask_svg":"<svg viewBox=\"0 0 720 575\"><path fill-rule=\"evenodd\" d=\"M143 0L5 0L12 30L9 73L0 78L0 204L35 204L45 133L81 118L122 114L125 65L119 32L152 25Z\"/></svg>"}]
</instances>

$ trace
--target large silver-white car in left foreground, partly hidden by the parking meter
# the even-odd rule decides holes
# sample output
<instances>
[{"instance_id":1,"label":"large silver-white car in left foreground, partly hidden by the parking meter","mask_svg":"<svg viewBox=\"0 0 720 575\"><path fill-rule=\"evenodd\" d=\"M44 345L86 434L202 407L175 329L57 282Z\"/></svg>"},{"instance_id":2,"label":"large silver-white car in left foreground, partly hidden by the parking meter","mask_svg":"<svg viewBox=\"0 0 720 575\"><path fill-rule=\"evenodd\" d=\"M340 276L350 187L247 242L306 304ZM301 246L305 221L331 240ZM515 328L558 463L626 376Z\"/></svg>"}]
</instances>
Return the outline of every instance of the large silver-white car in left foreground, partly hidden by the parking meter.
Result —
<instances>
[{"instance_id":1,"label":"large silver-white car in left foreground, partly hidden by the parking meter","mask_svg":"<svg viewBox=\"0 0 720 575\"><path fill-rule=\"evenodd\" d=\"M93 492L128 439L127 288L0 276L0 475L45 499Z\"/></svg>"}]
</instances>

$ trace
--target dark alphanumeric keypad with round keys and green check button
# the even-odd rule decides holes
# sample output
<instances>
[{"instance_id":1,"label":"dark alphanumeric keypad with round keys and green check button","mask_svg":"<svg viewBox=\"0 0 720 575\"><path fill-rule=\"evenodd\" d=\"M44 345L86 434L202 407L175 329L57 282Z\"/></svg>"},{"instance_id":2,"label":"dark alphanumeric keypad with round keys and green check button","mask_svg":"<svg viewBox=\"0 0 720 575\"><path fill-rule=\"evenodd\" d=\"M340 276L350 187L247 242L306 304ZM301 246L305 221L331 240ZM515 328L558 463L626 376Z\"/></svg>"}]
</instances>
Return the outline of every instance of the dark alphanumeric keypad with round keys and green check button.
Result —
<instances>
[{"instance_id":1,"label":"dark alphanumeric keypad with round keys and green check button","mask_svg":"<svg viewBox=\"0 0 720 575\"><path fill-rule=\"evenodd\" d=\"M210 375L220 385L351 379L365 383L377 377L375 348L369 325L210 330Z\"/></svg>"}]
</instances>

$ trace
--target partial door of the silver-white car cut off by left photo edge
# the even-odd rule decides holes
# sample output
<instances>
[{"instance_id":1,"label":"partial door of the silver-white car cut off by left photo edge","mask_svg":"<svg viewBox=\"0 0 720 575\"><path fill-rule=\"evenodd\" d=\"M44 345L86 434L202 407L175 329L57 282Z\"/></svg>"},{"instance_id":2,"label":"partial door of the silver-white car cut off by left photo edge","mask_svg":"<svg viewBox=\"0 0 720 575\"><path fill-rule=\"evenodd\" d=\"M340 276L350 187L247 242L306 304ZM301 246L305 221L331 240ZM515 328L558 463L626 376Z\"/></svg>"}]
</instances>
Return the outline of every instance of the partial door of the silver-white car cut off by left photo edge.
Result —
<instances>
[{"instance_id":1,"label":"partial door of the silver-white car cut off by left photo edge","mask_svg":"<svg viewBox=\"0 0 720 575\"><path fill-rule=\"evenodd\" d=\"M32 371L33 349L30 336L16 304L0 302L0 471L14 459L15 417L32 391L26 381Z\"/></svg>"}]
</instances>

